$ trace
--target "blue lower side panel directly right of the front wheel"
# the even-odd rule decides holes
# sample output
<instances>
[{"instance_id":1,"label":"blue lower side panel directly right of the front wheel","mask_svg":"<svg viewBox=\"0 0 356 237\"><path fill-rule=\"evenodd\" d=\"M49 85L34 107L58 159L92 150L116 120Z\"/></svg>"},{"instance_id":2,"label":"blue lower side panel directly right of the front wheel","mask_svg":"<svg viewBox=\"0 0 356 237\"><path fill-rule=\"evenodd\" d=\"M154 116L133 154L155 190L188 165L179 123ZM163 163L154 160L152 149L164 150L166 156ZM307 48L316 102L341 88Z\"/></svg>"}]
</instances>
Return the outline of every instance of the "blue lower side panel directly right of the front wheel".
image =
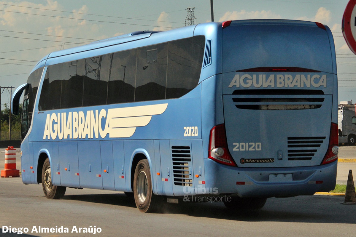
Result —
<instances>
[{"instance_id":1,"label":"blue lower side panel directly right of the front wheel","mask_svg":"<svg viewBox=\"0 0 356 237\"><path fill-rule=\"evenodd\" d=\"M80 188L77 141L58 142L62 186Z\"/></svg>"}]
</instances>

